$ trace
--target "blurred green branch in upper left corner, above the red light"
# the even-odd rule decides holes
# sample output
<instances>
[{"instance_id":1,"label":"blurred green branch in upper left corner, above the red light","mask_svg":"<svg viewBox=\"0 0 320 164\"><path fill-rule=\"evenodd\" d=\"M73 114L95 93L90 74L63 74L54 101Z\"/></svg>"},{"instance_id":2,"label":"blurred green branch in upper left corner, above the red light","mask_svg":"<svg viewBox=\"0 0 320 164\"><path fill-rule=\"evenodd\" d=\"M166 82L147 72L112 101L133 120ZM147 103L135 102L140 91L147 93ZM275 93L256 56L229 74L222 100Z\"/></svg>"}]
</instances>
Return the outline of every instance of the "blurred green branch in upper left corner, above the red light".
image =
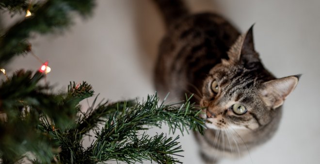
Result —
<instances>
[{"instance_id":1,"label":"blurred green branch in upper left corner, above the red light","mask_svg":"<svg viewBox=\"0 0 320 164\"><path fill-rule=\"evenodd\" d=\"M23 2L16 1L11 7L19 7ZM4 7L10 7L7 1L2 3ZM9 6L8 6L9 5ZM72 24L70 12L77 12L82 17L91 14L94 0L47 0L44 4L34 9L32 16L25 18L11 27L4 36L0 37L0 67L6 64L15 55L25 54L30 51L30 45L26 41L31 33L52 33L62 31ZM54 11L54 12L53 12Z\"/></svg>"}]
</instances>

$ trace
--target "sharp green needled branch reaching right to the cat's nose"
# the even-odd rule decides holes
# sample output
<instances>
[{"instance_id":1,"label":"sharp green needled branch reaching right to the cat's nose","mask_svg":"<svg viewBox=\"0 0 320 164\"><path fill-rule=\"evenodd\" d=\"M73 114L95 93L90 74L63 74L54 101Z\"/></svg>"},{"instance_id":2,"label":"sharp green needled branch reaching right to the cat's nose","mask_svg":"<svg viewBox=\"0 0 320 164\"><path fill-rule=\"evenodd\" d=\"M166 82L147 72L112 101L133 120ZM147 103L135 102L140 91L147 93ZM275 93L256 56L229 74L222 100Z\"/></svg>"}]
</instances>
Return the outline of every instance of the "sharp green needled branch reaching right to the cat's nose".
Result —
<instances>
[{"instance_id":1,"label":"sharp green needled branch reaching right to the cat's nose","mask_svg":"<svg viewBox=\"0 0 320 164\"><path fill-rule=\"evenodd\" d=\"M187 99L189 100L189 99ZM94 103L93 103L94 104ZM171 126L171 132L177 126L183 125L186 130L203 132L204 120L198 117L199 111L188 101L183 104L159 104L159 98L148 96L143 103L119 102L114 104L101 103L95 109L90 107L85 116L78 119L78 126L66 131L53 129L49 121L44 122L48 135L55 138L61 148L57 156L60 163L104 163L110 160L127 163L151 160L156 163L180 163L172 155L182 151L177 139L164 137L164 134L150 137L138 135L141 130L147 130L153 125L161 127L162 123ZM189 105L188 105L189 104ZM164 114L169 112L169 114ZM173 118L168 118L173 117ZM98 123L105 122L100 131L96 131L96 140L85 149L82 138L90 130L95 130ZM178 123L176 123L178 122ZM97 129L96 129L97 130Z\"/></svg>"}]
</instances>

